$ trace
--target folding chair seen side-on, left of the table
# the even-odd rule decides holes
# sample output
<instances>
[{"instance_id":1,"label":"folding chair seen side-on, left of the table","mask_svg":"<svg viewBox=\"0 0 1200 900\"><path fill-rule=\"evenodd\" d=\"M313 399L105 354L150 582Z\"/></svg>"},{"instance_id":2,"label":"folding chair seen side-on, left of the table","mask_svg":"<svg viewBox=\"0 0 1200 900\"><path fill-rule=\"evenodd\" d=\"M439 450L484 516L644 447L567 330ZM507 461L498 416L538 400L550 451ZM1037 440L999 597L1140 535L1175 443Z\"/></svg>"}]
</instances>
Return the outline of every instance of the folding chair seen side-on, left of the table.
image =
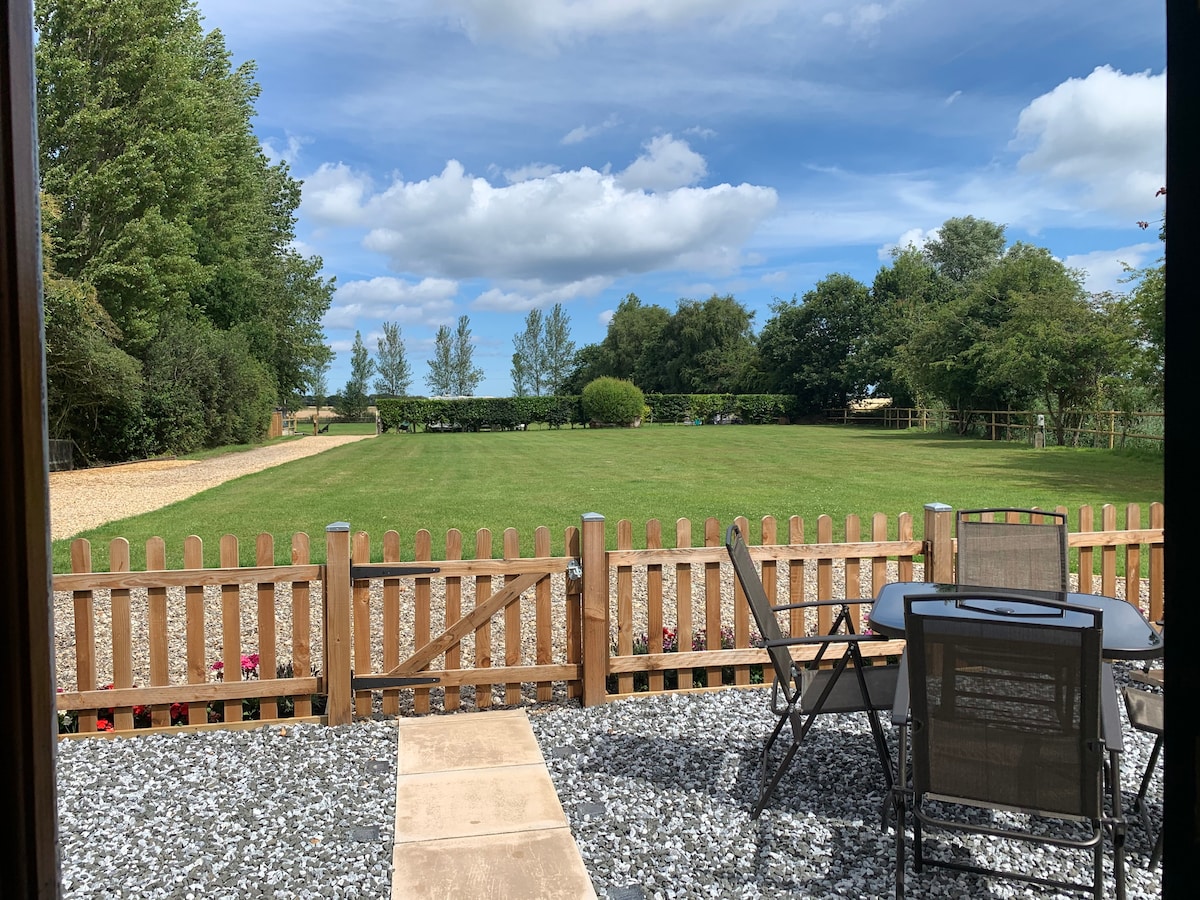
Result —
<instances>
[{"instance_id":1,"label":"folding chair seen side-on, left of the table","mask_svg":"<svg viewBox=\"0 0 1200 900\"><path fill-rule=\"evenodd\" d=\"M758 800L754 808L754 817L757 818L767 805L767 800L775 791L780 779L787 770L792 757L800 746L800 742L809 733L812 722L821 713L850 713L865 712L871 725L871 734L875 740L875 751L878 754L880 764L883 768L883 778L887 782L888 796L892 788L892 756L888 751L887 738L883 734L883 726L880 724L880 709L892 707L896 688L896 673L899 666L866 666L859 643L863 641L877 641L874 635L856 634L854 620L850 614L850 605L845 600L814 600L803 604L772 605L763 588L762 578L750 558L745 540L736 524L730 526L725 533L725 547L733 563L733 571L737 574L738 583L750 605L758 632L763 637L763 646L770 656L770 665L774 670L774 682L770 690L770 712L776 716L774 730L763 744L760 756L760 785ZM821 607L836 608L838 614L833 620L828 634L816 636L785 637L775 618L778 612L788 610L817 610ZM845 629L845 630L842 630ZM797 665L792 659L791 648L802 646L818 646L814 659L805 667ZM840 656L826 656L833 646L841 647ZM820 668L822 661L835 661L833 668ZM852 680L841 678L850 670ZM782 701L782 702L781 702ZM768 764L772 748L779 738L785 725L791 725L792 743L788 745L782 760L772 769ZM887 815L887 802L883 810Z\"/></svg>"}]
</instances>

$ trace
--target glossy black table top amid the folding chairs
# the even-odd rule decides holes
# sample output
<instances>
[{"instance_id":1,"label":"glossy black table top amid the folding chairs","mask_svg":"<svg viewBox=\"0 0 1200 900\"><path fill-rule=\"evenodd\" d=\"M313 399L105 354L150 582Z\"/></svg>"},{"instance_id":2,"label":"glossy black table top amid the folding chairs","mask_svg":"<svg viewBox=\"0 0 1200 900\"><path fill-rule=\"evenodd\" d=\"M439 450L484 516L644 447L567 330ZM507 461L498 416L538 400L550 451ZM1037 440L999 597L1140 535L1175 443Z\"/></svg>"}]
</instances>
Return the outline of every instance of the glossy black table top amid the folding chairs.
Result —
<instances>
[{"instance_id":1,"label":"glossy black table top amid the folding chairs","mask_svg":"<svg viewBox=\"0 0 1200 900\"><path fill-rule=\"evenodd\" d=\"M961 616L962 618L974 618L979 613L970 607L958 606L955 599L964 594L978 596L979 592L994 595L995 600L973 601L973 606L989 604L995 607L1008 607L1012 612L1007 616L1009 620L1021 622L1020 601L1006 599L1008 596L1026 595L1038 600L1056 600L1058 602L1074 606L1091 606L1104 613L1104 656L1106 659L1157 659L1163 655L1163 636L1141 614L1136 606L1117 600L1111 596L1099 594L1060 593L1049 590L1010 590L1007 588L979 588L966 584L935 584L931 582L899 581L884 584L875 598L871 607L869 625L872 631L886 637L904 637L904 600L912 594L941 594L946 598L946 610L940 614ZM1032 611L1032 610L1031 610ZM1082 619L1075 616L1075 619ZM1030 618L1030 622L1044 622L1042 617ZM1072 622L1068 613L1061 619L1062 624L1079 624Z\"/></svg>"}]
</instances>

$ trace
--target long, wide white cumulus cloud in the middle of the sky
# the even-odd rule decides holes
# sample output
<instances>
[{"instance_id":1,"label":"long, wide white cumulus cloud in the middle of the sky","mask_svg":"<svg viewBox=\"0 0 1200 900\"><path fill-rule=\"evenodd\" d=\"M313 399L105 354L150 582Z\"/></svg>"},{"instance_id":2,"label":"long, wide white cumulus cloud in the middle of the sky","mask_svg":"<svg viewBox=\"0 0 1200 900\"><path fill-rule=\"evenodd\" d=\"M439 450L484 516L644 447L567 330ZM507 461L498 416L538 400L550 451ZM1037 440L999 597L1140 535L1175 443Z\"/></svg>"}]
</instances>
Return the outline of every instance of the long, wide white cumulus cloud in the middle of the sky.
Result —
<instances>
[{"instance_id":1,"label":"long, wide white cumulus cloud in the middle of the sky","mask_svg":"<svg viewBox=\"0 0 1200 900\"><path fill-rule=\"evenodd\" d=\"M586 293L594 278L736 269L744 244L774 210L775 191L722 184L647 193L641 186L652 181L659 188L692 181L703 160L670 138L652 142L643 158L620 178L582 168L500 187L451 160L438 175L397 179L374 194L344 166L324 166L305 185L306 212L370 229L364 246L397 272Z\"/></svg>"}]
</instances>

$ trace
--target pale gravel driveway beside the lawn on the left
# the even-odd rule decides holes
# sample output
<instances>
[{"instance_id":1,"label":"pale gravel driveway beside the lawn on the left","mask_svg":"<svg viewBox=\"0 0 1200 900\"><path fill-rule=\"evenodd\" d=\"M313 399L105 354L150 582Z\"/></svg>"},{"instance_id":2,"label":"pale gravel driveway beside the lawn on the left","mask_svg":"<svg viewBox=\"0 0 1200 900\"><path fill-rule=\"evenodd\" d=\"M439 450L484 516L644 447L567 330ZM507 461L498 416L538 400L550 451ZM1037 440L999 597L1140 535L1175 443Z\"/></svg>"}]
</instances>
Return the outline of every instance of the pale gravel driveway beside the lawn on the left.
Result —
<instances>
[{"instance_id":1,"label":"pale gravel driveway beside the lawn on the left","mask_svg":"<svg viewBox=\"0 0 1200 900\"><path fill-rule=\"evenodd\" d=\"M211 460L156 460L50 473L50 538L150 512L252 472L313 456L373 434L306 437Z\"/></svg>"}]
</instances>

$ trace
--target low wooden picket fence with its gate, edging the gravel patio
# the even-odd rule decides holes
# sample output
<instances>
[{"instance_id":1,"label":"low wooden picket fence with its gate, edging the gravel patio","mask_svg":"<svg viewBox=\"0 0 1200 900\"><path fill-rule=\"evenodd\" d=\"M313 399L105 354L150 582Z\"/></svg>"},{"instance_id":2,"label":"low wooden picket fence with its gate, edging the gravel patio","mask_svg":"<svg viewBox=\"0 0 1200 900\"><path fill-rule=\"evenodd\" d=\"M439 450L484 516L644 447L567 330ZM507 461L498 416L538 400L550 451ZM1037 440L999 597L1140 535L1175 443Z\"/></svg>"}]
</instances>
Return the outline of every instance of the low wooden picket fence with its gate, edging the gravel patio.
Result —
<instances>
[{"instance_id":1,"label":"low wooden picket fence with its gate, edging the gravel patio","mask_svg":"<svg viewBox=\"0 0 1200 900\"><path fill-rule=\"evenodd\" d=\"M1124 509L1120 524L1111 505L1098 515L1081 508L1069 544L1084 593L1123 592L1138 602L1145 563L1142 612L1159 620L1162 504L1152 504L1148 523L1141 518L1138 505ZM818 516L814 532L798 516L763 518L754 528L736 521L756 538L750 553L773 599L862 600L853 605L862 623L888 582L953 581L953 510L943 504L925 508L923 540L913 539L910 514L894 521L876 514L865 528L847 517L840 541L829 516ZM256 565L240 566L238 540L226 535L215 569L203 568L196 536L184 544L184 568L166 569L166 544L154 538L140 572L130 571L124 539L109 547L109 571L91 571L90 546L79 540L72 571L54 576L72 608L56 635L60 719L73 719L79 734L271 720L337 725L377 708L396 714L407 691L412 712L422 714L468 703L560 697L592 706L643 691L750 685L768 660L732 577L725 524L652 520L635 547L634 523L622 520L607 550L604 516L587 514L581 527L565 529L562 557L551 556L546 528L534 535L534 554L521 557L510 528L499 557L491 533L478 532L472 558L454 529L437 553L426 530L407 552L389 532L373 553L370 535L334 523L325 565L308 563L310 539L296 534L290 565L274 565L271 536L259 535ZM828 626L798 616L788 624L792 634ZM98 641L112 647L110 666L98 664ZM895 656L902 647L880 641L866 653ZM244 666L245 656L254 665ZM256 704L257 718L244 720Z\"/></svg>"}]
</instances>

